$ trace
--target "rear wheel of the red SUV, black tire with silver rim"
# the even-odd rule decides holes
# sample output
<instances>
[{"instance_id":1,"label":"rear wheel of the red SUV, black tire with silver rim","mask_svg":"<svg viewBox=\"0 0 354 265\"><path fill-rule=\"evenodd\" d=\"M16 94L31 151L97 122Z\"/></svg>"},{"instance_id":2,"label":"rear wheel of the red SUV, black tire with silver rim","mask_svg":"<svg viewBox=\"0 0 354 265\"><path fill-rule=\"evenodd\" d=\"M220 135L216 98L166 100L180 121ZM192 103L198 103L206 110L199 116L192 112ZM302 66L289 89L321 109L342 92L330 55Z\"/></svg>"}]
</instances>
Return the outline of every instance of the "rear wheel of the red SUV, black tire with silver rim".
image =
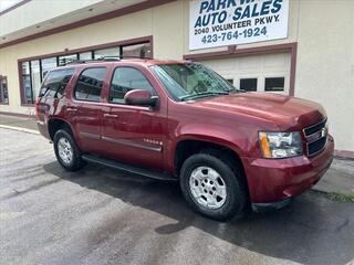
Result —
<instances>
[{"instance_id":1,"label":"rear wheel of the red SUV, black tire with silver rim","mask_svg":"<svg viewBox=\"0 0 354 265\"><path fill-rule=\"evenodd\" d=\"M56 159L65 170L76 171L84 166L76 141L67 130L60 129L55 132L53 146Z\"/></svg>"}]
</instances>

